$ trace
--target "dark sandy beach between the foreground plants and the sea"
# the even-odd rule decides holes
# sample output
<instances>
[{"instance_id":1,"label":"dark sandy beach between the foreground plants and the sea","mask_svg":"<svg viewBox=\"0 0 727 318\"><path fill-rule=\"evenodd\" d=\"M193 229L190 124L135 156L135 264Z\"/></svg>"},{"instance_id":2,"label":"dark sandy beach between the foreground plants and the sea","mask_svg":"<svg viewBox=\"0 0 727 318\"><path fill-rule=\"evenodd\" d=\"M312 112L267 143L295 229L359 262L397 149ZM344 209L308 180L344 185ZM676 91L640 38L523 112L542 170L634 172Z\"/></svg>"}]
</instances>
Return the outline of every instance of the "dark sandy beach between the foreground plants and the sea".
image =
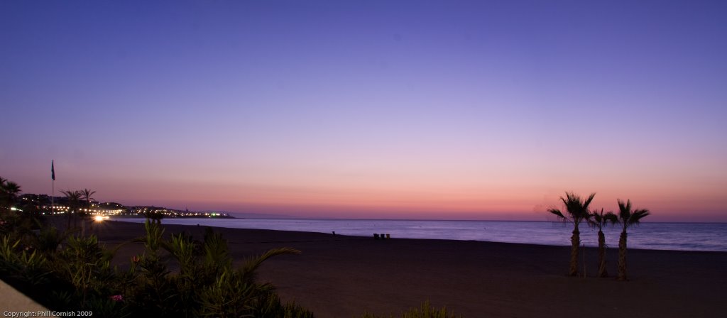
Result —
<instances>
[{"instance_id":1,"label":"dark sandy beach between the foreground plants and the sea","mask_svg":"<svg viewBox=\"0 0 727 318\"><path fill-rule=\"evenodd\" d=\"M203 227L164 225L201 240ZM108 246L142 235L142 224L107 221L94 232ZM272 258L259 280L284 301L316 317L398 314L430 300L474 317L725 317L727 253L629 250L630 281L595 278L596 251L586 250L590 277L566 277L569 247L453 240L374 240L308 232L218 229L237 263L270 248L300 255ZM637 229L638 230L638 229ZM124 245L119 264L142 253ZM616 272L616 251L608 255Z\"/></svg>"}]
</instances>

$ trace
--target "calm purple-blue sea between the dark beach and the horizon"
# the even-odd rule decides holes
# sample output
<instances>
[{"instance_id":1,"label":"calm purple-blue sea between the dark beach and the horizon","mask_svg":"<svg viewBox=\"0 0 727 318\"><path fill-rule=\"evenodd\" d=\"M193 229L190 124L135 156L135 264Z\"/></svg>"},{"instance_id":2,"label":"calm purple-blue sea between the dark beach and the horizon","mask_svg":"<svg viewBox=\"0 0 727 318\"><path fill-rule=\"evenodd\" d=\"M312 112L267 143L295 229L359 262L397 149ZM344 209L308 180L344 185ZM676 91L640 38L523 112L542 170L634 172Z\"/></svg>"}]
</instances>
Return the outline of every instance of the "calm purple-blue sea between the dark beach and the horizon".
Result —
<instances>
[{"instance_id":1,"label":"calm purple-blue sea between the dark beach and the horizon","mask_svg":"<svg viewBox=\"0 0 727 318\"><path fill-rule=\"evenodd\" d=\"M143 222L144 219L119 219ZM164 219L165 224L206 225L238 229L278 229L285 231L335 231L340 235L443 240L478 240L540 245L570 245L572 226L548 221L419 221L348 219ZM581 226L581 240L598 246L595 230ZM608 227L606 245L617 248L620 229ZM727 223L642 223L629 228L629 248L651 250L727 251Z\"/></svg>"}]
</instances>

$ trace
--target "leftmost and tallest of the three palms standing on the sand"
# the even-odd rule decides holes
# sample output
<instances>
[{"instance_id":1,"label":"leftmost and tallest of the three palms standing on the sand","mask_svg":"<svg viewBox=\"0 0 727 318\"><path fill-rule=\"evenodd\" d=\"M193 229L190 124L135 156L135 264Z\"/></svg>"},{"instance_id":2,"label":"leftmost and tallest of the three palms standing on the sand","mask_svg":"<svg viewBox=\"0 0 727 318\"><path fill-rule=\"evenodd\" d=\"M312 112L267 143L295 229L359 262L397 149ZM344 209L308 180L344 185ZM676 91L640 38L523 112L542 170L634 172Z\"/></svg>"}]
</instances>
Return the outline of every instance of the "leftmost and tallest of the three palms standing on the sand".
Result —
<instances>
[{"instance_id":1,"label":"leftmost and tallest of the three palms standing on the sand","mask_svg":"<svg viewBox=\"0 0 727 318\"><path fill-rule=\"evenodd\" d=\"M563 214L561 210L557 208L549 208L547 211L558 216L558 219L568 221L573 224L573 235L571 236L571 263L569 269L570 276L578 275L578 248L581 245L581 235L578 230L578 225L584 221L590 219L590 212L588 211L588 205L593 201L595 193L591 193L585 200L581 200L581 197L575 195L573 192L566 192L566 197L561 197L561 201L566 205L566 213Z\"/></svg>"}]
</instances>

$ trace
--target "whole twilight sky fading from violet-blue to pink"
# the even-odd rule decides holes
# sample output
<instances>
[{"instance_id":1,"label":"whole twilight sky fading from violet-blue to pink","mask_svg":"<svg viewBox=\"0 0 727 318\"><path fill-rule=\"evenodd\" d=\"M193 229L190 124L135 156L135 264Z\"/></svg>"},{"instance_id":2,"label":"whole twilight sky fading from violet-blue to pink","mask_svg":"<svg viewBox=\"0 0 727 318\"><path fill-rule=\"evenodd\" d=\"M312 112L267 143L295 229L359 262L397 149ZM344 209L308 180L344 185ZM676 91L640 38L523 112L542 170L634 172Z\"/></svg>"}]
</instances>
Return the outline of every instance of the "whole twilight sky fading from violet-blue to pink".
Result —
<instances>
[{"instance_id":1,"label":"whole twilight sky fading from violet-blue to pink","mask_svg":"<svg viewBox=\"0 0 727 318\"><path fill-rule=\"evenodd\" d=\"M725 1L0 1L0 176L310 218L727 221ZM646 220L645 220L646 221Z\"/></svg>"}]
</instances>

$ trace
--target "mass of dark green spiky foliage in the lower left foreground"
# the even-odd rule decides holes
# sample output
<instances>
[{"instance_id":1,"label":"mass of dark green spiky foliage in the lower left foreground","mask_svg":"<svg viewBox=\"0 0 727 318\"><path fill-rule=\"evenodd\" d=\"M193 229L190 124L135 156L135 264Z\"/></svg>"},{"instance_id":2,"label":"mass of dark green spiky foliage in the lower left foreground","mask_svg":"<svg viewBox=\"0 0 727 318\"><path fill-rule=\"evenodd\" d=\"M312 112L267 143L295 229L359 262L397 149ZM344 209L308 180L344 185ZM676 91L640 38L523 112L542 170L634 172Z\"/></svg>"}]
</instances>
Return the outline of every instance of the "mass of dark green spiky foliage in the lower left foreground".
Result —
<instances>
[{"instance_id":1,"label":"mass of dark green spiky foliage in the lower left foreground","mask_svg":"<svg viewBox=\"0 0 727 318\"><path fill-rule=\"evenodd\" d=\"M29 234L36 245L4 235L0 277L53 310L91 310L103 317L313 317L281 303L272 285L254 280L264 261L299 251L269 250L236 268L227 242L212 230L202 242L185 233L164 239L156 222L146 222L145 231L137 239L145 252L126 270L111 266L115 250L95 235L44 227Z\"/></svg>"}]
</instances>

